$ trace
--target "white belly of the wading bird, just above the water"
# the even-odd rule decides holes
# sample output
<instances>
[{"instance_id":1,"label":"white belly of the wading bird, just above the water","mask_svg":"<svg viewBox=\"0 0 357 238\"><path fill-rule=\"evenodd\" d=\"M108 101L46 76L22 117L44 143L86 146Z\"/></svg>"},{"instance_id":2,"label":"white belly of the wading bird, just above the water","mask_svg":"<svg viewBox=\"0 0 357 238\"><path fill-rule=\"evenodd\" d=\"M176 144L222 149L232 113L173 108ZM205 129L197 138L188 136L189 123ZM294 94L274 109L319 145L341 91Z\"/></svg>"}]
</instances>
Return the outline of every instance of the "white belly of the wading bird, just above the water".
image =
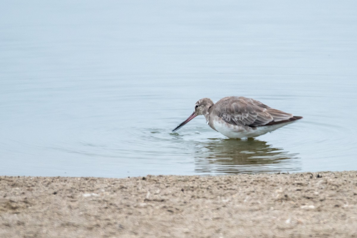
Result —
<instances>
[{"instance_id":1,"label":"white belly of the wading bird, just above the water","mask_svg":"<svg viewBox=\"0 0 357 238\"><path fill-rule=\"evenodd\" d=\"M247 138L253 138L253 137L257 137L257 136L266 134L268 132L271 132L273 130L281 128L282 126L285 126L290 123L291 122L281 123L281 124L276 124L276 125L268 125L268 126L250 127L250 126L232 125L232 124L226 123L223 120L218 120L218 121L213 122L213 126L215 127L216 131L227 136L228 138L247 139Z\"/></svg>"}]
</instances>

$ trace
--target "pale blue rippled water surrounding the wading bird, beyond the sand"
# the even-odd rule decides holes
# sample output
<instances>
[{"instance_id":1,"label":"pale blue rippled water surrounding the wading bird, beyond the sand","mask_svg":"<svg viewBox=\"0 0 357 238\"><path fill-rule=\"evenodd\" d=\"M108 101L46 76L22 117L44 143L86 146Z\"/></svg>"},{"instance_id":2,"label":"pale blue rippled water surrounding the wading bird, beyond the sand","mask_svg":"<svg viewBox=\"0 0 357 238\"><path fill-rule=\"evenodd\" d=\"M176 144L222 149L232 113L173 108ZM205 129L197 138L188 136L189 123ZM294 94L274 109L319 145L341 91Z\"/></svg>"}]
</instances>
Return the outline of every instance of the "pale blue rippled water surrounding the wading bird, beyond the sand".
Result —
<instances>
[{"instance_id":1,"label":"pale blue rippled water surrounding the wading bird, beyond the sand","mask_svg":"<svg viewBox=\"0 0 357 238\"><path fill-rule=\"evenodd\" d=\"M356 1L6 1L0 175L357 170ZM254 140L197 117L252 97L303 120Z\"/></svg>"}]
</instances>

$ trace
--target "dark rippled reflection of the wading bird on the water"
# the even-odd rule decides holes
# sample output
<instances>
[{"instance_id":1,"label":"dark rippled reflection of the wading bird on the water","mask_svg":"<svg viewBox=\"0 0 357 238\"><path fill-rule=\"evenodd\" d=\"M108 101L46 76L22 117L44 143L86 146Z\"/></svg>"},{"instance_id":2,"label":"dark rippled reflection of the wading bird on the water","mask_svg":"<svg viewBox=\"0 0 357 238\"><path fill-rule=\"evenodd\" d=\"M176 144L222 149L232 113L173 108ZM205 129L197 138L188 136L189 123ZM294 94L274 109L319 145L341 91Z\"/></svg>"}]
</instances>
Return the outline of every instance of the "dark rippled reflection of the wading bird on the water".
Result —
<instances>
[{"instance_id":1,"label":"dark rippled reflection of the wading bird on the water","mask_svg":"<svg viewBox=\"0 0 357 238\"><path fill-rule=\"evenodd\" d=\"M298 154L256 139L211 139L197 143L196 152L195 171L206 175L301 170Z\"/></svg>"}]
</instances>

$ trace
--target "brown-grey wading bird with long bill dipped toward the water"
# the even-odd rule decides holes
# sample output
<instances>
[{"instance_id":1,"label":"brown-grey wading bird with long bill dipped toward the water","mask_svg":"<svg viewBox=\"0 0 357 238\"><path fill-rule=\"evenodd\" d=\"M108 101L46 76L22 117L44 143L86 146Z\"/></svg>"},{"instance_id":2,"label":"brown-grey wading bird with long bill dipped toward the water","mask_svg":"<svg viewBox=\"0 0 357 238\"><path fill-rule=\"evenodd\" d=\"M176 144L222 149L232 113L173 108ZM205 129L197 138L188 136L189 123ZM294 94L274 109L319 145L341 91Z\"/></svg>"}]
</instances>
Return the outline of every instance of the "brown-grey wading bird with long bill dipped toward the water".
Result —
<instances>
[{"instance_id":1,"label":"brown-grey wading bird with long bill dipped toward the water","mask_svg":"<svg viewBox=\"0 0 357 238\"><path fill-rule=\"evenodd\" d=\"M260 136L302 118L273 109L252 98L225 97L216 104L209 98L202 98L196 102L195 111L190 117L172 131L198 115L204 115L213 130L235 139Z\"/></svg>"}]
</instances>

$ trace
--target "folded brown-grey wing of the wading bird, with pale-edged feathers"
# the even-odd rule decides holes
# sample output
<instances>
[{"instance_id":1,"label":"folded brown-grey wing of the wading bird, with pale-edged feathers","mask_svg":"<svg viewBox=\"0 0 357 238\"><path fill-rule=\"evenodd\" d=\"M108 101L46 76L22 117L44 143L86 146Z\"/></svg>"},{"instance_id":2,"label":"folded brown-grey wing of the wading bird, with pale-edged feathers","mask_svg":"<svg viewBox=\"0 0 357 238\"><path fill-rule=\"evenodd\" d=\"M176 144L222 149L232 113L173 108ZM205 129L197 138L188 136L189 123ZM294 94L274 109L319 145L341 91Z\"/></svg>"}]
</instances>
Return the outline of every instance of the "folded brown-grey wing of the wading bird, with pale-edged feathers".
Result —
<instances>
[{"instance_id":1,"label":"folded brown-grey wing of the wading bird, with pale-edged feathers","mask_svg":"<svg viewBox=\"0 0 357 238\"><path fill-rule=\"evenodd\" d=\"M245 97L230 97L227 100L217 102L214 113L223 121L240 126L263 126L268 123L287 120L292 114Z\"/></svg>"}]
</instances>

